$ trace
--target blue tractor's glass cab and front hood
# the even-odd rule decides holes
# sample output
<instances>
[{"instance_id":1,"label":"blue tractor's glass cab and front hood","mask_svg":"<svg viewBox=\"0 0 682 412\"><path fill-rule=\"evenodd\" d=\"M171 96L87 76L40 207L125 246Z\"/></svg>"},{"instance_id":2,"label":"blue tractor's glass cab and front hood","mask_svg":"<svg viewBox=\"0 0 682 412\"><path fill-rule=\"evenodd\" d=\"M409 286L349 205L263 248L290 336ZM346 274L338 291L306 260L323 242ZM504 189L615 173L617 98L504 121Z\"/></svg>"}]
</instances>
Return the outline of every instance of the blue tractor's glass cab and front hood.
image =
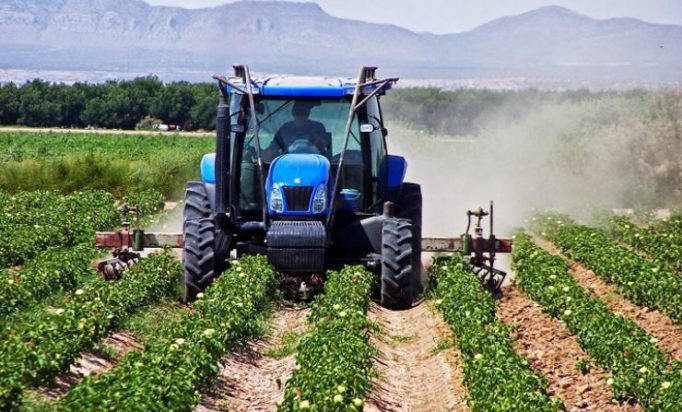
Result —
<instances>
[{"instance_id":1,"label":"blue tractor's glass cab and front hood","mask_svg":"<svg viewBox=\"0 0 682 412\"><path fill-rule=\"evenodd\" d=\"M259 167L272 221L324 220L332 210L337 173L336 211L381 209L384 193L379 181L385 178L387 155L378 95L359 107L349 123L354 92L349 79L276 77L257 79L255 85L255 122L248 98L230 94L231 129L244 130L235 133L233 146L241 151L238 188L234 188L234 212L240 218L262 215ZM390 84L377 94L388 88Z\"/></svg>"}]
</instances>

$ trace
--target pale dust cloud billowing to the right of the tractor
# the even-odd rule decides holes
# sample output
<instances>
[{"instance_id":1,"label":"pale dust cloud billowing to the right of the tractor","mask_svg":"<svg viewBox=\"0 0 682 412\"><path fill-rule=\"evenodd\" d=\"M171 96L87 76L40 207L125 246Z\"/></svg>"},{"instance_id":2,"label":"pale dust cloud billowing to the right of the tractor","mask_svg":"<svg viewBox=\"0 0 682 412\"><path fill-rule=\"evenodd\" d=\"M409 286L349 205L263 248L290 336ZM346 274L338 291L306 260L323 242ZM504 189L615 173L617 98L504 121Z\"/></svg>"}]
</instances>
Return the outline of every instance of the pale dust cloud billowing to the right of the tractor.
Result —
<instances>
[{"instance_id":1,"label":"pale dust cloud billowing to the right of the tractor","mask_svg":"<svg viewBox=\"0 0 682 412\"><path fill-rule=\"evenodd\" d=\"M495 231L503 236L534 209L622 205L632 168L623 154L627 133L609 123L611 114L607 102L551 103L517 118L482 119L473 136L431 136L394 125L387 145L407 158L407 179L422 185L424 235L458 236L466 211L487 210L493 200Z\"/></svg>"}]
</instances>

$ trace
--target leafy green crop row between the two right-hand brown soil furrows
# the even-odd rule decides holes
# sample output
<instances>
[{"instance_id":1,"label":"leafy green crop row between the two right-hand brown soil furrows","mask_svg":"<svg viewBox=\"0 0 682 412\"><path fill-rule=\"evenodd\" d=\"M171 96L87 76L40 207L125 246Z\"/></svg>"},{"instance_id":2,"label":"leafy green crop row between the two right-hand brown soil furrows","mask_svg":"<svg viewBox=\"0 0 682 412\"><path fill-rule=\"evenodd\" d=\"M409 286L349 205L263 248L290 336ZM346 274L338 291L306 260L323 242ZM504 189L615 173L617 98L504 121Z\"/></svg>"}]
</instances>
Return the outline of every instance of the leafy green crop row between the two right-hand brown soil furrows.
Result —
<instances>
[{"instance_id":1,"label":"leafy green crop row between the two right-hand brown soil furrows","mask_svg":"<svg viewBox=\"0 0 682 412\"><path fill-rule=\"evenodd\" d=\"M515 236L512 257L516 283L543 311L562 320L583 350L613 374L607 384L617 399L674 409L677 402L666 402L675 394L682 398L682 380L668 372L666 354L655 338L583 290L569 274L568 262L540 249L527 234Z\"/></svg>"}]
</instances>

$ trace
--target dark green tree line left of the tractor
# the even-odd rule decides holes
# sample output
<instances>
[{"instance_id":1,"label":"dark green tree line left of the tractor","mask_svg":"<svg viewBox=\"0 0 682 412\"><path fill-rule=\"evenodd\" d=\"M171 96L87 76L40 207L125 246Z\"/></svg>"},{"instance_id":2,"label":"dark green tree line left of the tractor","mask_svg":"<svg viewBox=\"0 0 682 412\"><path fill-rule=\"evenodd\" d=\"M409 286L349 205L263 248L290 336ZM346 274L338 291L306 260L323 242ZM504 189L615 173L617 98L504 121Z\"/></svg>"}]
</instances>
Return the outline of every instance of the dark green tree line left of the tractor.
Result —
<instances>
[{"instance_id":1,"label":"dark green tree line left of the tractor","mask_svg":"<svg viewBox=\"0 0 682 412\"><path fill-rule=\"evenodd\" d=\"M134 129L147 117L185 130L214 129L215 84L154 76L65 85L32 80L0 86L0 124L32 127Z\"/></svg>"}]
</instances>

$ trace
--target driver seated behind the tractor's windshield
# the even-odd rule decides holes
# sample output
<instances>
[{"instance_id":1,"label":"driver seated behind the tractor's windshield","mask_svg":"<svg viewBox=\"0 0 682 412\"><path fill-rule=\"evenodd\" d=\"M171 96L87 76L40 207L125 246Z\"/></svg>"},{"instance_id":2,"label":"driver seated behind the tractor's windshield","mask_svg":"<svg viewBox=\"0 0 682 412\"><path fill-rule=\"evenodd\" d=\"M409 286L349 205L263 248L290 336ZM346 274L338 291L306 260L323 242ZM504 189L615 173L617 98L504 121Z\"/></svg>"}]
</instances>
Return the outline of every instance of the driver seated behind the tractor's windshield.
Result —
<instances>
[{"instance_id":1,"label":"driver seated behind the tractor's windshield","mask_svg":"<svg viewBox=\"0 0 682 412\"><path fill-rule=\"evenodd\" d=\"M311 153L312 151L319 152L323 156L328 155L328 148L330 143L327 129L320 122L310 120L310 111L319 103L308 101L297 101L291 109L291 114L294 120L288 121L279 128L275 134L272 143L265 149L268 154L286 153L296 151L300 145L294 144L301 139L310 142L308 150L303 148L300 153ZM274 156L273 156L274 157Z\"/></svg>"}]
</instances>

